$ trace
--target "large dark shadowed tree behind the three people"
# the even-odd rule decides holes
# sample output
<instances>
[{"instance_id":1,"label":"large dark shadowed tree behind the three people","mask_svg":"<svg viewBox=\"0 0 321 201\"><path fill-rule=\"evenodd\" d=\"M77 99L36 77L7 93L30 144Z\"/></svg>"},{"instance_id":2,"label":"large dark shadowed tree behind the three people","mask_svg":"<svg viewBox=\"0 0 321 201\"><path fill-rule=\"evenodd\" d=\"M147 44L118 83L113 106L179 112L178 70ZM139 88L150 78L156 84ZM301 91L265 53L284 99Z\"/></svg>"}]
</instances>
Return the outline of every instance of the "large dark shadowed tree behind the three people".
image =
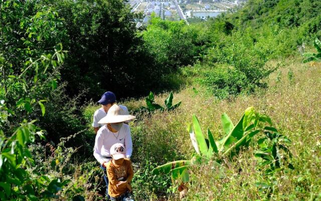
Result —
<instances>
[{"instance_id":1,"label":"large dark shadowed tree behind the three people","mask_svg":"<svg viewBox=\"0 0 321 201\"><path fill-rule=\"evenodd\" d=\"M69 53L62 69L69 94L83 90L86 97L98 99L106 90L117 97L132 97L157 85L162 70L137 37L136 18L123 0L47 3L64 18ZM146 76L148 75L148 76Z\"/></svg>"}]
</instances>

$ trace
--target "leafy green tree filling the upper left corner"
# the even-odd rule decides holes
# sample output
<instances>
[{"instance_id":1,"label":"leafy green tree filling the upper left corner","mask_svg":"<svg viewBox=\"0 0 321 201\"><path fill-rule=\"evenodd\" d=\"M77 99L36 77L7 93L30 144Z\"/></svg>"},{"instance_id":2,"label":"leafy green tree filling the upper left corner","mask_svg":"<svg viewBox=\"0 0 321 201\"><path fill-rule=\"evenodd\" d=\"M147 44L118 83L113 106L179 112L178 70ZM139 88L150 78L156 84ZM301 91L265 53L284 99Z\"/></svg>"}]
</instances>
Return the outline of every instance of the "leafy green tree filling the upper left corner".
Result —
<instances>
[{"instance_id":1,"label":"leafy green tree filling the upper left corner","mask_svg":"<svg viewBox=\"0 0 321 201\"><path fill-rule=\"evenodd\" d=\"M15 111L15 127L26 117L31 120L44 114L44 103L60 79L57 62L64 59L59 43L65 40L65 31L57 12L36 1L10 0L0 8L0 67L4 75L0 99Z\"/></svg>"}]
</instances>

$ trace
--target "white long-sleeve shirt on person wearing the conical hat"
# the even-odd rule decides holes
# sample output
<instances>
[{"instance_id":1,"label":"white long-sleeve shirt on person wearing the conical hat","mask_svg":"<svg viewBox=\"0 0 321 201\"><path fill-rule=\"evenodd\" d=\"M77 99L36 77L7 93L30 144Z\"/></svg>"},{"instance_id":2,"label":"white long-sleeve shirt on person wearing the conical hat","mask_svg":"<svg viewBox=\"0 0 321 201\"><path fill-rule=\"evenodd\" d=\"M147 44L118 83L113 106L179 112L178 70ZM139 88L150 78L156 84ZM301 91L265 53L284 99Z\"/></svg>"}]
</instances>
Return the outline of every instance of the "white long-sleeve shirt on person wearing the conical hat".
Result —
<instances>
[{"instance_id":1,"label":"white long-sleeve shirt on person wearing the conical hat","mask_svg":"<svg viewBox=\"0 0 321 201\"><path fill-rule=\"evenodd\" d=\"M110 147L115 143L122 143L126 147L126 157L130 158L132 152L132 141L130 129L127 124L123 124L119 133L113 133L108 130L107 126L101 127L96 135L94 156L100 164L109 162L111 159Z\"/></svg>"}]
</instances>

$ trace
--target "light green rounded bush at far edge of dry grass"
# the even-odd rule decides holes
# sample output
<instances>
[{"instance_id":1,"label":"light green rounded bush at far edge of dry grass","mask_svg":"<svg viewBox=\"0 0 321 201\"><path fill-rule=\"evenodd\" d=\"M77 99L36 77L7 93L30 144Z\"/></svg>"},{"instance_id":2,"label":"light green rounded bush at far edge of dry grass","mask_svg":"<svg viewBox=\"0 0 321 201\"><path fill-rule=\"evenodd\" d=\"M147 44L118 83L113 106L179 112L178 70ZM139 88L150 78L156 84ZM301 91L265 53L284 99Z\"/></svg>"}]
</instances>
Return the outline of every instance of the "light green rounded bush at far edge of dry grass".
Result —
<instances>
[{"instance_id":1,"label":"light green rounded bush at far edge of dry grass","mask_svg":"<svg viewBox=\"0 0 321 201\"><path fill-rule=\"evenodd\" d=\"M230 94L241 90L252 91L255 87L265 86L263 79L273 72L276 67L266 65L266 62L277 55L277 47L273 37L255 36L252 30L236 31L226 36L225 41L209 50L207 58L211 62L227 64L228 69L217 69L217 76L227 74L221 81L205 77L205 83L213 87L234 88ZM224 72L225 71L225 72ZM214 72L213 72L214 73ZM239 75L239 76L237 76Z\"/></svg>"}]
</instances>

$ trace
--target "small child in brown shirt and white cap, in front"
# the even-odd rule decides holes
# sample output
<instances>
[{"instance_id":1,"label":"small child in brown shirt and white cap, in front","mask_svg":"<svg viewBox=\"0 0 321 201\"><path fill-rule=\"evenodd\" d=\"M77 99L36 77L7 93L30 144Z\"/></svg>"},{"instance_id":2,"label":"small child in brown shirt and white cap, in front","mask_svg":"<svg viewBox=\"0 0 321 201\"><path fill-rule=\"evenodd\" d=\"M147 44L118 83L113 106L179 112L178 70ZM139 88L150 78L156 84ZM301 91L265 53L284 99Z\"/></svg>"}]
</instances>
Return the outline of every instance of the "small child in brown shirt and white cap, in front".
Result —
<instances>
[{"instance_id":1,"label":"small child in brown shirt and white cap, in front","mask_svg":"<svg viewBox=\"0 0 321 201\"><path fill-rule=\"evenodd\" d=\"M131 198L130 181L133 170L130 159L126 158L126 148L121 143L116 143L110 148L112 160L107 164L107 176L109 180L108 194L110 200L133 201Z\"/></svg>"}]
</instances>

